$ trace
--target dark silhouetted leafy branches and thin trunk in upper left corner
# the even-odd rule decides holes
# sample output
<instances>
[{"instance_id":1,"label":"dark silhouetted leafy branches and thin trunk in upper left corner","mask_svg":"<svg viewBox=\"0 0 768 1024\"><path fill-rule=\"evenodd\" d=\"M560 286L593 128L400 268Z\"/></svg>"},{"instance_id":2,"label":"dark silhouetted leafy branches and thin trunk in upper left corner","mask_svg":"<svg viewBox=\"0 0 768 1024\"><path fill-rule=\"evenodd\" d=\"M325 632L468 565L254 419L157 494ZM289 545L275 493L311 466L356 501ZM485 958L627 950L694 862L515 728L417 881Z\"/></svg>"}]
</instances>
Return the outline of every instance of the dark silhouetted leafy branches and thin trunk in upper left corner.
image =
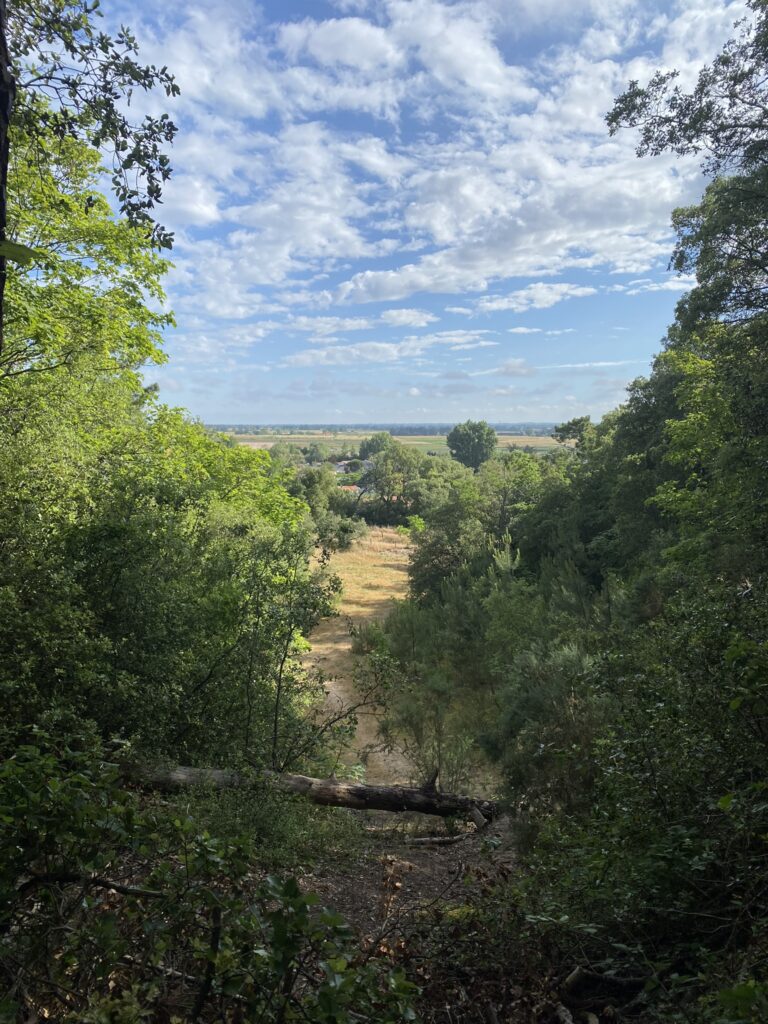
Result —
<instances>
[{"instance_id":1,"label":"dark silhouetted leafy branches and thin trunk in upper left corner","mask_svg":"<svg viewBox=\"0 0 768 1024\"><path fill-rule=\"evenodd\" d=\"M121 213L170 248L172 236L155 222L171 173L163 146L176 126L167 114L130 120L125 103L135 89L178 87L166 68L140 65L129 30L114 38L97 32L98 0L0 0L0 357L4 354L7 259L29 262L34 250L8 238L10 140L45 146L51 138L79 139L111 154L112 183Z\"/></svg>"}]
</instances>

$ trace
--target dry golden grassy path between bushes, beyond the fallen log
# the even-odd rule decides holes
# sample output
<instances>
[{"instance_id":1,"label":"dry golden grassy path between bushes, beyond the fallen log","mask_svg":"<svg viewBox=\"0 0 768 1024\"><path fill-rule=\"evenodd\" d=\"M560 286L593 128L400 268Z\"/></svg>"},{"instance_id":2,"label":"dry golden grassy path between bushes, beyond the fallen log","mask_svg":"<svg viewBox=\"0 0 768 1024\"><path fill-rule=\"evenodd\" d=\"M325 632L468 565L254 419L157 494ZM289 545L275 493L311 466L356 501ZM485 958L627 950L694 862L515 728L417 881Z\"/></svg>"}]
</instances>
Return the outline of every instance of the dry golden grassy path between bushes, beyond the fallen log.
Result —
<instances>
[{"instance_id":1,"label":"dry golden grassy path between bushes, beyond the fallen log","mask_svg":"<svg viewBox=\"0 0 768 1024\"><path fill-rule=\"evenodd\" d=\"M409 543L392 527L375 526L348 551L340 551L331 561L331 569L343 585L339 615L326 618L309 640L312 649L307 664L316 666L328 678L329 707L339 701L353 703L357 694L352 653L350 622L359 626L381 622L392 601L408 593ZM410 766L396 752L378 746L378 720L375 713L358 714L353 743L342 755L347 764L366 763L366 781L380 784L408 781Z\"/></svg>"}]
</instances>

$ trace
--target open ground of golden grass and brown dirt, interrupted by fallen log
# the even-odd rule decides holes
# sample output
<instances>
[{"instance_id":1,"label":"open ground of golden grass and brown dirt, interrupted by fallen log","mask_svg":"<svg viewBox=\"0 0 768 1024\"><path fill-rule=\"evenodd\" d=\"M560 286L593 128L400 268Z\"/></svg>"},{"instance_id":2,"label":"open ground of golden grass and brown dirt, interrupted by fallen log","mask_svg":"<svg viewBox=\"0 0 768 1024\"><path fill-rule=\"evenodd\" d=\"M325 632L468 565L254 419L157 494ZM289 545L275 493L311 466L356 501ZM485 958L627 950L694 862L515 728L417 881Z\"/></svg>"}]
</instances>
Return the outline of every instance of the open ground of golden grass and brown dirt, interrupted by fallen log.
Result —
<instances>
[{"instance_id":1,"label":"open ground of golden grass and brown dirt, interrupted by fallen log","mask_svg":"<svg viewBox=\"0 0 768 1024\"><path fill-rule=\"evenodd\" d=\"M410 545L395 529L375 527L348 551L334 555L331 569L342 581L339 615L327 618L314 630L307 663L327 677L329 708L350 705L358 698L350 626L381 622L392 602L408 594ZM375 713L358 716L357 729L341 760L349 765L365 763L366 781L383 785L407 782L412 768L397 751L384 750L378 735ZM339 812L337 812L339 813ZM323 903L335 907L356 931L364 950L378 949L392 956L393 964L407 967L424 985L426 1001L452 1005L445 1021L465 1024L477 1020L477 999L457 983L451 968L435 967L422 974L421 947L431 922L444 925L444 914L454 913L460 931L472 915L481 892L509 873L514 863L514 843L507 819L495 821L487 833L476 834L465 822L447 823L439 818L385 811L346 813L360 819L360 842L347 856L319 858L298 873L299 882ZM447 845L419 846L414 839L426 835L449 837ZM461 838L459 838L461 837ZM449 918L449 922L451 919ZM474 923L472 923L474 927ZM498 973L498 972L497 972ZM433 977L432 977L433 975ZM506 983L505 983L506 984ZM479 988L488 987L482 981ZM499 982L489 984L496 998ZM431 1014L442 1021L442 1010Z\"/></svg>"}]
</instances>

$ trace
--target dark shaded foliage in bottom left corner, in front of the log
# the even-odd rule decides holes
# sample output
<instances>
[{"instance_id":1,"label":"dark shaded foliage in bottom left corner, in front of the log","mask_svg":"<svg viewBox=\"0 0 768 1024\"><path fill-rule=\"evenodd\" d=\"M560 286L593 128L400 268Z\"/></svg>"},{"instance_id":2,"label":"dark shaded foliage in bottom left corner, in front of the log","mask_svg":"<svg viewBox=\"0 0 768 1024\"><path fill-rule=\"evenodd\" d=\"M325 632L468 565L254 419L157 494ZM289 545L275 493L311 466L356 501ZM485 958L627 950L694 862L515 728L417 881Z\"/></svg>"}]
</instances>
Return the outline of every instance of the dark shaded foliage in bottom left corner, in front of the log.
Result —
<instances>
[{"instance_id":1,"label":"dark shaded foliage in bottom left corner, in front of the log","mask_svg":"<svg viewBox=\"0 0 768 1024\"><path fill-rule=\"evenodd\" d=\"M37 734L0 767L0 1019L345 1024L414 988L249 844L142 811L97 748Z\"/></svg>"}]
</instances>

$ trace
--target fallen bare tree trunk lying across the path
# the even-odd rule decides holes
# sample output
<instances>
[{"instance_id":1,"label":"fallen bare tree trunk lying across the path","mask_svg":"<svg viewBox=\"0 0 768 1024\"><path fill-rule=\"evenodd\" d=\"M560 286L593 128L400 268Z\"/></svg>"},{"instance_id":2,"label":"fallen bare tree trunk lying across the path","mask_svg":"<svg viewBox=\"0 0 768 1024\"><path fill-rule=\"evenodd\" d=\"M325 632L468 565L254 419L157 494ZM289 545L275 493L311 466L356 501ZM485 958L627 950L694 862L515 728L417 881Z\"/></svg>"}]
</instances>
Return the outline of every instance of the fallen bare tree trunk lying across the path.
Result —
<instances>
[{"instance_id":1,"label":"fallen bare tree trunk lying across the path","mask_svg":"<svg viewBox=\"0 0 768 1024\"><path fill-rule=\"evenodd\" d=\"M139 785L165 793L175 793L191 786L209 786L229 790L248 786L252 779L236 771L221 768L140 768L130 766L125 770L129 779ZM366 785L338 778L311 778L308 775L291 775L264 771L262 777L286 793L296 793L314 804L333 807L351 807L357 810L418 811L440 817L465 817L477 821L499 813L490 800L477 797L459 797L434 790L418 790L407 785Z\"/></svg>"}]
</instances>

